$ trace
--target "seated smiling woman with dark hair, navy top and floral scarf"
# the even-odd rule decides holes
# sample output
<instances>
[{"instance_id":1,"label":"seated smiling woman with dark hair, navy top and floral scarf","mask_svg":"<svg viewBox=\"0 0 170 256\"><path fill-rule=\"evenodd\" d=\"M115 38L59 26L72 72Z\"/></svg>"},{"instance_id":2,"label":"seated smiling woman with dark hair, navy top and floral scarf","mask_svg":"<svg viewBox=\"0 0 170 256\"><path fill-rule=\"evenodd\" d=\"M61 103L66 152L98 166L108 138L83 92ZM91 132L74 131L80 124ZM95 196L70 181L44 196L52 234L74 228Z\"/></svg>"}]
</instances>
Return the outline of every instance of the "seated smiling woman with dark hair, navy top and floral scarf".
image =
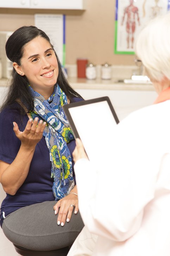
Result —
<instances>
[{"instance_id":1,"label":"seated smiling woman with dark hair, navy top and floral scarf","mask_svg":"<svg viewBox=\"0 0 170 256\"><path fill-rule=\"evenodd\" d=\"M17 29L6 42L6 55L13 71L0 112L0 182L7 193L0 224L16 246L67 255L83 222L75 140L62 106L82 97L69 86L42 30Z\"/></svg>"}]
</instances>

